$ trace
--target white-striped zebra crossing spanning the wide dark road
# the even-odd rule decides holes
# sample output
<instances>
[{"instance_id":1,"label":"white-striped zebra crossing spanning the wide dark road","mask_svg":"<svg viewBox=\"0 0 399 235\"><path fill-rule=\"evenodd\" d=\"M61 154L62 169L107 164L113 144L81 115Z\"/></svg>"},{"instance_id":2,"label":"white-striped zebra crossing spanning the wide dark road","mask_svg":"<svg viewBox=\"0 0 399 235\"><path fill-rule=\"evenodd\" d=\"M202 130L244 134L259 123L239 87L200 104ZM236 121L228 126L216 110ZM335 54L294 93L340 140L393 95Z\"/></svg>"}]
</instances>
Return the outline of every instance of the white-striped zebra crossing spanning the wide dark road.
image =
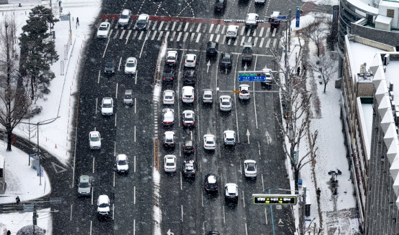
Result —
<instances>
[{"instance_id":1,"label":"white-striped zebra crossing spanning the wide dark road","mask_svg":"<svg viewBox=\"0 0 399 235\"><path fill-rule=\"evenodd\" d=\"M102 21L98 22L98 25ZM115 40L129 41L148 40L163 41L166 38L170 42L182 43L203 43L204 41L214 41L221 45L244 45L245 42L253 43L254 47L276 47L278 38L277 29L270 27L257 27L255 30L246 30L244 25L239 26L237 38L226 38L228 25L191 23L177 21L149 21L147 30L133 30L131 21L127 28L118 27L118 21L106 19L104 22L111 23L109 38Z\"/></svg>"}]
</instances>

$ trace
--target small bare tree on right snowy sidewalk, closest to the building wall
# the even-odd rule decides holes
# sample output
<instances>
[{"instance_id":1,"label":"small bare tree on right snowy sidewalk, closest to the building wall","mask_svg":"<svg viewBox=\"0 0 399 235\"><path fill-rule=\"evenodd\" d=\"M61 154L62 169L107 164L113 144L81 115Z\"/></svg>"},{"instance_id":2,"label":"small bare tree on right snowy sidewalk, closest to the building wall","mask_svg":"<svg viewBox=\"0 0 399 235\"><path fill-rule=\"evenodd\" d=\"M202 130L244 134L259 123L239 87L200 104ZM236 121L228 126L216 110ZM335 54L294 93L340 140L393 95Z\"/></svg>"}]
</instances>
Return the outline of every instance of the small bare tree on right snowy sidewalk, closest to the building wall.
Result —
<instances>
[{"instance_id":1,"label":"small bare tree on right snowy sidewalk, closest to the building wall","mask_svg":"<svg viewBox=\"0 0 399 235\"><path fill-rule=\"evenodd\" d=\"M330 53L326 53L323 56L313 60L310 63L310 66L312 67L312 70L316 72L316 74L319 74L321 80L323 80L323 93L325 93L325 88L327 87L328 82L330 82L330 80L336 76L336 71L338 70L338 61L333 60L330 56Z\"/></svg>"}]
</instances>

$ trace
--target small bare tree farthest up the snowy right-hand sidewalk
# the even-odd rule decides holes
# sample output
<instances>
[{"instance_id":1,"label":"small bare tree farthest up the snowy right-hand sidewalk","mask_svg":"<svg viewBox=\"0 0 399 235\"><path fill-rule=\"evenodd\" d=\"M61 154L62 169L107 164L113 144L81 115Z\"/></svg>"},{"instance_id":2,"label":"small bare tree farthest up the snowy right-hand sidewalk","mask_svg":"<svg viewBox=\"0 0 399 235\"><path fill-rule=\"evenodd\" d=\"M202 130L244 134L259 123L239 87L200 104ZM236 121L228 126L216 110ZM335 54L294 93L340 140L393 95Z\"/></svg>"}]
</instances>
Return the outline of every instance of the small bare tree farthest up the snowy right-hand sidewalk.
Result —
<instances>
[{"instance_id":1,"label":"small bare tree farthest up the snowy right-hand sidewalk","mask_svg":"<svg viewBox=\"0 0 399 235\"><path fill-rule=\"evenodd\" d=\"M317 47L317 57L320 56L320 43L325 33L324 21L321 19L314 19L313 22L307 23L305 27L298 30L304 38L310 38Z\"/></svg>"}]
</instances>

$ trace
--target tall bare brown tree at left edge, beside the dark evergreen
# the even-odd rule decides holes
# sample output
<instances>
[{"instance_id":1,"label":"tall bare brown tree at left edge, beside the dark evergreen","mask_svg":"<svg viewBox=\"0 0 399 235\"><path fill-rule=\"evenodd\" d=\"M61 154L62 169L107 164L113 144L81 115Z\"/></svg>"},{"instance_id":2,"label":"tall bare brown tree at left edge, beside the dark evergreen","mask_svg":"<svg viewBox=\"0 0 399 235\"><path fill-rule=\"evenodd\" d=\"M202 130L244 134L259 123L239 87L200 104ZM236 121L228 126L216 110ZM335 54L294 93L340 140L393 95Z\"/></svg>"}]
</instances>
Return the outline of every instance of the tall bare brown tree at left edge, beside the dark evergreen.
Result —
<instances>
[{"instance_id":1,"label":"tall bare brown tree at left edge, beside the dark evergreen","mask_svg":"<svg viewBox=\"0 0 399 235\"><path fill-rule=\"evenodd\" d=\"M11 26L10 26L11 25ZM12 131L28 112L29 89L17 88L17 60L12 59L15 21L6 17L0 25L0 124L7 131L7 150L11 150ZM21 80L24 80L21 78ZM25 82L27 80L25 79Z\"/></svg>"}]
</instances>

